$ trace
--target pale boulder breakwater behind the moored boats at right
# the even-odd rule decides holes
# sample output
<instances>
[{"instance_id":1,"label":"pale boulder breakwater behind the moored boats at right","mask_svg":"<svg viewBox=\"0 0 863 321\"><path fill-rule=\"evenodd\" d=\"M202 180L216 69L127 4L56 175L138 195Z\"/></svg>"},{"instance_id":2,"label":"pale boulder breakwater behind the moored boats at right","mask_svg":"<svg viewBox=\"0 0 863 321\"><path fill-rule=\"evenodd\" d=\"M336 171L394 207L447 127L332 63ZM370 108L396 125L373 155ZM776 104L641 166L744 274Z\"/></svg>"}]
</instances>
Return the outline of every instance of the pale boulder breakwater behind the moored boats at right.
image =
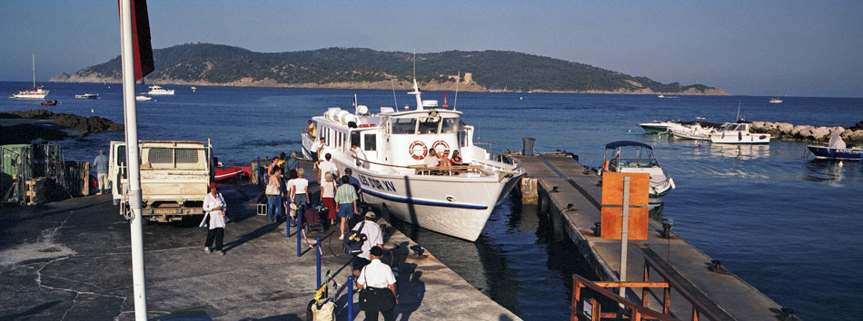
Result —
<instances>
[{"instance_id":1,"label":"pale boulder breakwater behind the moored boats at right","mask_svg":"<svg viewBox=\"0 0 863 321\"><path fill-rule=\"evenodd\" d=\"M799 141L827 142L831 136L838 135L849 144L863 144L863 122L858 122L849 128L794 125L788 122L752 122L752 131L769 133L773 138L780 140Z\"/></svg>"}]
</instances>

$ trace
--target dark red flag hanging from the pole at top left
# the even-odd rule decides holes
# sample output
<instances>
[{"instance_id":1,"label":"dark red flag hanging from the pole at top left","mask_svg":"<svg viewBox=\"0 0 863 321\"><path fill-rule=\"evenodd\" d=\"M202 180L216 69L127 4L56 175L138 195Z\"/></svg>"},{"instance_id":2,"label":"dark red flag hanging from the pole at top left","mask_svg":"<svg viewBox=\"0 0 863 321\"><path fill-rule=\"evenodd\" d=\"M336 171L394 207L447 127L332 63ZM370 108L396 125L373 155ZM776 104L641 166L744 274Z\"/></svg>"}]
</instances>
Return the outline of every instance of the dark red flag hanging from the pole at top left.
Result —
<instances>
[{"instance_id":1,"label":"dark red flag hanging from the pole at top left","mask_svg":"<svg viewBox=\"0 0 863 321\"><path fill-rule=\"evenodd\" d=\"M117 0L117 7L120 7ZM132 2L132 51L134 55L134 81L153 73L153 46L150 44L150 18L147 15L147 0ZM122 13L121 13L122 15Z\"/></svg>"}]
</instances>

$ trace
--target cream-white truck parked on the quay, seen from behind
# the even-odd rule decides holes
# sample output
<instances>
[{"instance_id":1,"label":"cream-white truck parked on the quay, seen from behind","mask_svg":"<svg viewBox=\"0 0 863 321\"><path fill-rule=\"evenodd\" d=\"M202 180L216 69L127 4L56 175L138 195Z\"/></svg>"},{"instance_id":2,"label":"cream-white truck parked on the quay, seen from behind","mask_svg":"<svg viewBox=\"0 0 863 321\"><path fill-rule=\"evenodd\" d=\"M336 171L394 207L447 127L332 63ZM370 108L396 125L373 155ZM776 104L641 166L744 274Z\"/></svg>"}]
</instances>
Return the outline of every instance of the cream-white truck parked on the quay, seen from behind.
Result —
<instances>
[{"instance_id":1,"label":"cream-white truck parked on the quay, seen from behind","mask_svg":"<svg viewBox=\"0 0 863 321\"><path fill-rule=\"evenodd\" d=\"M203 214L203 197L213 181L209 141L140 141L141 197L144 222L170 222ZM111 141L108 180L120 214L129 211L126 144Z\"/></svg>"}]
</instances>

